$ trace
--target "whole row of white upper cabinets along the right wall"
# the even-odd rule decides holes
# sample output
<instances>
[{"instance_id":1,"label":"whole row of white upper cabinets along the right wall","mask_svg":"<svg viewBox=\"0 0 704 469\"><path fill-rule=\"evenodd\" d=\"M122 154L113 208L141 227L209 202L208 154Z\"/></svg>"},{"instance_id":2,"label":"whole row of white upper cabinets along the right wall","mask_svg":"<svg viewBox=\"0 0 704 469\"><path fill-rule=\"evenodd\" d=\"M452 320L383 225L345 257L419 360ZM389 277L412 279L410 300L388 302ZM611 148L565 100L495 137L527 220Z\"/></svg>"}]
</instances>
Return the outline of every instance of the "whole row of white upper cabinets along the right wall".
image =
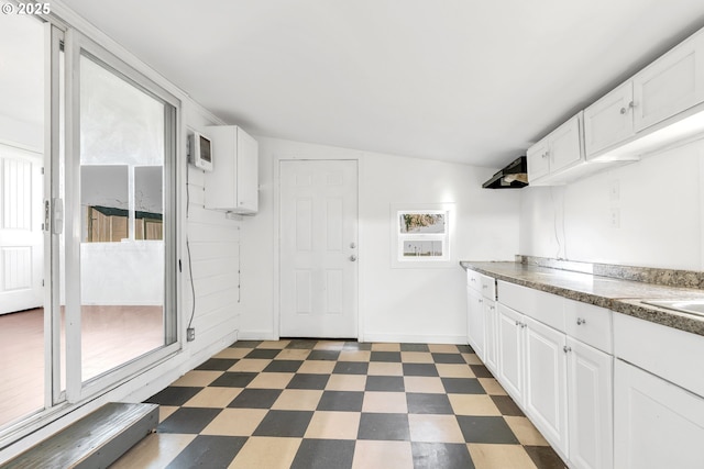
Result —
<instances>
[{"instance_id":1,"label":"whole row of white upper cabinets along the right wall","mask_svg":"<svg viewBox=\"0 0 704 469\"><path fill-rule=\"evenodd\" d=\"M565 158L551 136L574 125L574 118L528 148L531 186L566 183L704 132L704 30L587 107L579 123L583 158ZM546 139L548 142L546 143ZM564 147L573 147L574 144Z\"/></svg>"}]
</instances>

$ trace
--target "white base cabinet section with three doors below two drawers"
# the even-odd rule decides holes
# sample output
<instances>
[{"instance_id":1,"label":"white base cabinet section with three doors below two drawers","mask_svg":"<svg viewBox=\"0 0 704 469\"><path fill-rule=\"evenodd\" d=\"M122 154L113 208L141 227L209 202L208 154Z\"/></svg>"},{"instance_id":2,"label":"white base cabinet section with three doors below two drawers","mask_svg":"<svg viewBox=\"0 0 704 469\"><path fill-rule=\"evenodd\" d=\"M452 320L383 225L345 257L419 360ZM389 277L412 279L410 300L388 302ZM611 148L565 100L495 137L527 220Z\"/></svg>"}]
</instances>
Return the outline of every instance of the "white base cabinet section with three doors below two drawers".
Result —
<instances>
[{"instance_id":1,"label":"white base cabinet section with three doors below two drawers","mask_svg":"<svg viewBox=\"0 0 704 469\"><path fill-rule=\"evenodd\" d=\"M610 312L515 287L499 282L497 380L570 468L612 469L614 359L596 348L610 349L610 340L601 337L612 335ZM522 304L526 314L504 304L504 292L506 301ZM564 321L559 321L563 313ZM557 328L560 325L564 330ZM572 328L594 346L569 335Z\"/></svg>"}]
</instances>

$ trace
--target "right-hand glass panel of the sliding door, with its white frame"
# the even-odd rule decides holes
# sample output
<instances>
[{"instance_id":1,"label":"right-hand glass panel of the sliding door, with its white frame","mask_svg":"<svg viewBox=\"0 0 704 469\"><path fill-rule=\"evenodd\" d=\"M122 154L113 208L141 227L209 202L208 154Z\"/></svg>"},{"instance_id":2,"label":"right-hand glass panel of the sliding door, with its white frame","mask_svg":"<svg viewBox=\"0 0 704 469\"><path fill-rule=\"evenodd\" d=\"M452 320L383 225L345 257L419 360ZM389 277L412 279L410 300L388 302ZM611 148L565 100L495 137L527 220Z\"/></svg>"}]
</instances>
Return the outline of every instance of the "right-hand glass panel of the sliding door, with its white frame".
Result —
<instances>
[{"instance_id":1,"label":"right-hand glass panel of the sliding door, with its white frame","mask_svg":"<svg viewBox=\"0 0 704 469\"><path fill-rule=\"evenodd\" d=\"M128 378L176 344L178 102L69 32L68 398Z\"/></svg>"}]
</instances>

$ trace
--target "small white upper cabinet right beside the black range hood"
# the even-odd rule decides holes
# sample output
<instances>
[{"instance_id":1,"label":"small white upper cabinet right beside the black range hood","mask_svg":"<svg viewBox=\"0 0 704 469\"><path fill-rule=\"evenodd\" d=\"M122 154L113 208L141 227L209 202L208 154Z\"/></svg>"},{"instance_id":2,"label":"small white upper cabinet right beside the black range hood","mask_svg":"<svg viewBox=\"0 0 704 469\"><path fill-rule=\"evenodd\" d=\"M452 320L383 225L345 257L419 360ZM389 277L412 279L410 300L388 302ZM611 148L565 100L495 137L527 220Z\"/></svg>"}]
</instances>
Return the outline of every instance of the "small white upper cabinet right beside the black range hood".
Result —
<instances>
[{"instance_id":1,"label":"small white upper cabinet right beside the black range hood","mask_svg":"<svg viewBox=\"0 0 704 469\"><path fill-rule=\"evenodd\" d=\"M531 186L566 182L562 177L564 170L584 161L582 113L528 148L527 160L528 180Z\"/></svg>"}]
</instances>

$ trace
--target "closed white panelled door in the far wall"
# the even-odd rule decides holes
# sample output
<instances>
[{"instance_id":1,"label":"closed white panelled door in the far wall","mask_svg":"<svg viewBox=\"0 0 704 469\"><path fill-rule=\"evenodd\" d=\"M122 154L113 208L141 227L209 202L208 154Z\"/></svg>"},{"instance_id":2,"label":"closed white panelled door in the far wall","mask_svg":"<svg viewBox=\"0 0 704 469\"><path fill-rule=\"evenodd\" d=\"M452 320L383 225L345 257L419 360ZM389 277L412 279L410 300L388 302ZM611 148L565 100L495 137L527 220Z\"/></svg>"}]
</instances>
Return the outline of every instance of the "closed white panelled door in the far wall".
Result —
<instances>
[{"instance_id":1,"label":"closed white panelled door in the far wall","mask_svg":"<svg viewBox=\"0 0 704 469\"><path fill-rule=\"evenodd\" d=\"M356 161L280 161L279 177L280 336L356 337Z\"/></svg>"}]
</instances>

